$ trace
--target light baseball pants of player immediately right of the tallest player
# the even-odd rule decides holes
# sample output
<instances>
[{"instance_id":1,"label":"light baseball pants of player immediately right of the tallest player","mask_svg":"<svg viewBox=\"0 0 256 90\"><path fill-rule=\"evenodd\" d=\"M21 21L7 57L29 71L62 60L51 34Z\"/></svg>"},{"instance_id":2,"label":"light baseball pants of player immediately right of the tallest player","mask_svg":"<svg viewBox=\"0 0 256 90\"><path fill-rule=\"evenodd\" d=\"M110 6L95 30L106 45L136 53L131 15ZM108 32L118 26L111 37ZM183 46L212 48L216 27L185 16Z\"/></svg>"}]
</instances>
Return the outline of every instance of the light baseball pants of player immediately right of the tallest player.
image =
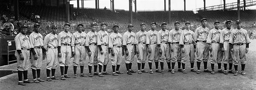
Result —
<instances>
[{"instance_id":1,"label":"light baseball pants of player immediately right of the tallest player","mask_svg":"<svg viewBox=\"0 0 256 90\"><path fill-rule=\"evenodd\" d=\"M220 44L219 43L212 43L212 51L210 51L210 63L216 64L221 63L223 58L223 52L221 51Z\"/></svg>"}]
</instances>

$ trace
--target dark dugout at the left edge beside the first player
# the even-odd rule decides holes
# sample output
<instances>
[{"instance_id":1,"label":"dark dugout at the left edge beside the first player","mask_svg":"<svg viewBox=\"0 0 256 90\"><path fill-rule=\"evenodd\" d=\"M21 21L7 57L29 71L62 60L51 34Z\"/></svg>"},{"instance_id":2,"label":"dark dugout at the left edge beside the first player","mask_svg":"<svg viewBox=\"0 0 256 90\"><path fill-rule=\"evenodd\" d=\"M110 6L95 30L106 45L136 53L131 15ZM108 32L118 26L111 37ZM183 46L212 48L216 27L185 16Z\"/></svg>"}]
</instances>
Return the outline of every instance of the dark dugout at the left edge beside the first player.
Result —
<instances>
[{"instance_id":1,"label":"dark dugout at the left edge beside the first player","mask_svg":"<svg viewBox=\"0 0 256 90\"><path fill-rule=\"evenodd\" d=\"M3 66L3 65L7 65L8 64L8 61L7 61L7 49L8 49L8 42L7 41L12 41L12 45L9 46L9 50L15 50L16 47L15 47L15 42L14 42L14 38L15 36L0 36L0 66ZM9 61L14 61L14 60L17 60L16 57L15 57L15 52L9 52ZM16 63L17 61L15 62L12 62L12 63Z\"/></svg>"}]
</instances>

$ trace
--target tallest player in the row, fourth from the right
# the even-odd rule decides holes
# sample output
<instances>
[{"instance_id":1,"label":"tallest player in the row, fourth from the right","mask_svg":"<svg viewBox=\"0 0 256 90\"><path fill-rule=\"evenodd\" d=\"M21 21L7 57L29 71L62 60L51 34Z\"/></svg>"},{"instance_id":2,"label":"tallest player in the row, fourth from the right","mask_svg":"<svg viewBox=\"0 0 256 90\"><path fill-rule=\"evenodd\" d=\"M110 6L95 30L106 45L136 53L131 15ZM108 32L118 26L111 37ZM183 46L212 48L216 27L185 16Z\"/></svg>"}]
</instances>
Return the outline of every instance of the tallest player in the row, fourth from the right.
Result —
<instances>
[{"instance_id":1,"label":"tallest player in the row, fourth from the right","mask_svg":"<svg viewBox=\"0 0 256 90\"><path fill-rule=\"evenodd\" d=\"M209 34L209 29L206 27L207 25L207 19L202 18L201 19L202 26L195 29L194 33L194 39L195 42L197 42L196 46L196 52L197 52L197 74L200 73L200 65L201 62L204 62L204 72L211 73L211 71L207 70L207 61L209 58L209 45L206 43L207 37Z\"/></svg>"}]
</instances>

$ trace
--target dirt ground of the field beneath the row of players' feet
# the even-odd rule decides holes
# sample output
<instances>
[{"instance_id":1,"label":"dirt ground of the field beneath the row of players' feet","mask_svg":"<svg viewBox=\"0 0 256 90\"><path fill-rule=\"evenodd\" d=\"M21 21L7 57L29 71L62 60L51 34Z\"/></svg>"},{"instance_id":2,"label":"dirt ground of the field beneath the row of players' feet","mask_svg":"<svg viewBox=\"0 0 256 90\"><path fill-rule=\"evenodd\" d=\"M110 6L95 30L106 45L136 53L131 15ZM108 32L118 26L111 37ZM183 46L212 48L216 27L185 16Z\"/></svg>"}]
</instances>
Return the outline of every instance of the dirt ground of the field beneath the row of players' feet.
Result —
<instances>
[{"instance_id":1,"label":"dirt ground of the field beneath the row of players' feet","mask_svg":"<svg viewBox=\"0 0 256 90\"><path fill-rule=\"evenodd\" d=\"M245 71L247 75L241 75L241 66L239 65L239 75L233 74L224 75L223 73L211 73L201 72L196 74L190 72L190 64L186 64L187 74L177 72L177 63L175 65L175 74L167 72L167 64L165 65L165 74L156 73L149 74L133 73L133 75L126 74L126 68L123 63L120 67L120 72L125 73L119 76L105 75L105 77L93 76L91 77L79 77L73 78L73 65L70 64L68 75L72 78L67 78L66 81L53 80L45 81L39 84L27 84L26 86L20 86L18 84L17 75L12 75L9 78L0 79L0 90L256 90L256 40L250 40L249 52L247 53L247 64ZM88 57L87 57L88 59ZM132 69L137 70L137 58L133 62ZM70 62L73 62L73 58ZM88 60L87 60L88 62ZM86 62L86 63L87 63ZM203 66L203 65L201 65ZM46 80L46 63L43 63L43 69L41 70L41 78ZM155 65L153 64L153 70ZM160 66L159 66L160 68ZM197 69L195 64L195 69ZM210 64L208 67L210 70ZM215 65L215 71L217 70ZM15 70L16 64L10 66L0 67L0 70ZM148 64L145 65L145 69L149 70ZM201 67L201 70L203 67ZM223 64L222 64L223 69ZM234 68L233 68L234 69ZM88 73L88 67L86 65L84 69L85 73ZM111 73L112 68L109 63L107 66L107 72ZM78 67L77 73L80 73ZM56 69L55 76L61 77L60 68ZM32 80L32 71L29 70L28 78Z\"/></svg>"}]
</instances>

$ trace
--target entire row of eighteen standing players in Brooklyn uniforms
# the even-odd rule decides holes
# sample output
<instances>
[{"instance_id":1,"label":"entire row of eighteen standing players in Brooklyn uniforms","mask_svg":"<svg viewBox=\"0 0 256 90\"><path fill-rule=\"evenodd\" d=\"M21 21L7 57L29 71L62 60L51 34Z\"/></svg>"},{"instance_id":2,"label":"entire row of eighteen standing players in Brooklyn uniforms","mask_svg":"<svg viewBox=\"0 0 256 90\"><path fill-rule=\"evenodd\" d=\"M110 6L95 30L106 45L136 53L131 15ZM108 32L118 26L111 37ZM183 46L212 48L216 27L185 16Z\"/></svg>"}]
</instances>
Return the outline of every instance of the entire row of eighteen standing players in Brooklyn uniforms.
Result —
<instances>
[{"instance_id":1,"label":"entire row of eighteen standing players in Brooklyn uniforms","mask_svg":"<svg viewBox=\"0 0 256 90\"><path fill-rule=\"evenodd\" d=\"M229 63L229 73L235 73L234 75L237 75L237 66L240 61L242 67L241 74L245 75L245 53L248 52L250 41L247 31L241 28L241 21L236 21L237 29L231 29L232 22L227 21L225 23L227 28L223 30L218 29L220 24L218 21L214 23L215 29L212 30L209 30L206 27L207 19L203 18L201 23L202 26L198 27L195 32L192 32L189 29L189 22L185 23L185 30L180 29L179 22L175 22L175 29L172 29L171 31L166 29L167 23L162 23L162 29L159 32L155 30L156 23L152 22L150 24L151 29L148 32L145 31L145 23L141 23L141 30L136 34L132 32L133 25L129 24L128 31L125 32L123 36L118 33L118 25L114 25L114 32L111 33L111 35L108 35L108 32L105 31L106 23L101 23L101 30L99 32L95 31L96 24L91 24L92 30L88 33L82 32L83 25L79 24L78 32L75 32L72 35L69 32L70 25L65 24L64 31L60 32L58 35L56 35L57 26L52 26L52 32L49 33L44 40L42 39L42 35L38 33L40 28L39 24L34 25L35 30L29 37L25 35L27 27L21 26L19 29L20 33L15 37L17 49L15 56L18 60L18 84L26 85L24 83L39 83L39 81L44 81L40 78L40 69L44 57L47 59L47 81L58 79L55 77L55 69L58 63L61 68L61 80L70 78L70 76L67 75L67 69L71 57L74 57L74 78L77 77L76 68L78 65L80 65L81 69L80 76L86 77L86 75L83 74L86 53L89 55L88 67L90 77L93 76L91 72L92 66L94 66L94 75L104 77L104 75L110 74L106 72L109 53L111 53L110 60L113 70L112 75L122 74L119 72L119 67L122 62L120 58L122 55L125 55L127 74L131 75L132 73L136 73L136 71L131 70L134 55L136 54L138 58L137 64L139 74L148 73L148 71L144 69L145 61L148 57L150 73L153 73L153 61L155 62L156 72L164 73L164 60L166 60L168 64L169 72L175 73L174 66L177 61L178 71L187 73L185 70L185 63L187 60L190 60L192 72L200 73L200 64L203 61L204 72L211 72L214 74L214 64L217 63L218 72L227 74L227 63ZM30 51L32 52L31 68L34 78L33 81L27 79ZM207 70L209 53L212 71ZM198 70L193 69L195 55ZM242 59L240 59L240 57ZM161 70L158 69L159 62ZM221 62L224 63L224 72L221 70ZM232 71L233 64L235 72ZM98 65L99 73L97 73ZM182 69L180 66L182 66ZM50 77L51 70L52 77ZM35 75L36 71L38 75L37 78ZM22 74L24 75L24 81L22 81Z\"/></svg>"}]
</instances>

